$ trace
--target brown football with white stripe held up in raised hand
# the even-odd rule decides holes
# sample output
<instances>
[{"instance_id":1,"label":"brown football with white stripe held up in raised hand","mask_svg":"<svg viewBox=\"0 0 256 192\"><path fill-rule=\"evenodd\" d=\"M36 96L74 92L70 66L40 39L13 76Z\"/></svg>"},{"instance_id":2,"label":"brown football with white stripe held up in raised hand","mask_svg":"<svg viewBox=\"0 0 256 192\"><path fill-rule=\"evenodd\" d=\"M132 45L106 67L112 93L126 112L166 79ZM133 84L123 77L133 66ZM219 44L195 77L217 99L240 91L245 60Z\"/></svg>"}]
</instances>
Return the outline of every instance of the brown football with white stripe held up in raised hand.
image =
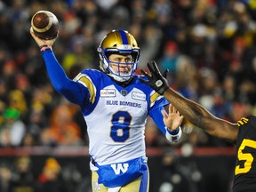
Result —
<instances>
[{"instance_id":1,"label":"brown football with white stripe held up in raised hand","mask_svg":"<svg viewBox=\"0 0 256 192\"><path fill-rule=\"evenodd\" d=\"M39 38L52 39L58 34L59 20L52 12L39 11L32 17L31 27Z\"/></svg>"}]
</instances>

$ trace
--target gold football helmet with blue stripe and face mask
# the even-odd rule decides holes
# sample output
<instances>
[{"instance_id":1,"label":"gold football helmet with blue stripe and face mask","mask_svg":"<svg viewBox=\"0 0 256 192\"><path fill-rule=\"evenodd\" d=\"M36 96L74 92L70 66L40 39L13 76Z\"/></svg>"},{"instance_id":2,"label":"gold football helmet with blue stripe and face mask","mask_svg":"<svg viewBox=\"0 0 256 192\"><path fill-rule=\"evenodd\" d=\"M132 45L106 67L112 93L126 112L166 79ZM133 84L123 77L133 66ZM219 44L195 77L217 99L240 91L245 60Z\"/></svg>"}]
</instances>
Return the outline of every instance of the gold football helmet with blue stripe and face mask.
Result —
<instances>
[{"instance_id":1,"label":"gold football helmet with blue stripe and face mask","mask_svg":"<svg viewBox=\"0 0 256 192\"><path fill-rule=\"evenodd\" d=\"M112 30L102 39L98 52L100 55L100 69L108 76L112 76L118 82L125 82L134 76L140 59L140 47L130 33L125 30ZM108 57L111 54L131 54L132 62L110 62ZM111 63L117 65L117 71L111 68ZM125 74L122 73L120 65L131 65L129 67L131 71Z\"/></svg>"}]
</instances>

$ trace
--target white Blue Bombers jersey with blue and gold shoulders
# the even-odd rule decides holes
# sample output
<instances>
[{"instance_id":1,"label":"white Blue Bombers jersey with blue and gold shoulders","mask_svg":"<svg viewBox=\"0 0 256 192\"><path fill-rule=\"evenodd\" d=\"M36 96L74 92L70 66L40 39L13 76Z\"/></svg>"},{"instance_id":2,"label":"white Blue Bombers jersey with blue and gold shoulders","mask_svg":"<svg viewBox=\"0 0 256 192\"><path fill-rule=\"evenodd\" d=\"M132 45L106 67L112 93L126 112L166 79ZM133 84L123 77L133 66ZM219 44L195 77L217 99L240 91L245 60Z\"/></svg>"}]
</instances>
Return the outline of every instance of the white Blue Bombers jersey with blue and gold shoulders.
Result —
<instances>
[{"instance_id":1,"label":"white Blue Bombers jersey with blue and gold shoulders","mask_svg":"<svg viewBox=\"0 0 256 192\"><path fill-rule=\"evenodd\" d=\"M138 76L123 87L98 70L86 69L75 81L90 92L81 108L92 159L104 165L146 157L144 132L148 113L169 102L148 85L140 83Z\"/></svg>"}]
</instances>

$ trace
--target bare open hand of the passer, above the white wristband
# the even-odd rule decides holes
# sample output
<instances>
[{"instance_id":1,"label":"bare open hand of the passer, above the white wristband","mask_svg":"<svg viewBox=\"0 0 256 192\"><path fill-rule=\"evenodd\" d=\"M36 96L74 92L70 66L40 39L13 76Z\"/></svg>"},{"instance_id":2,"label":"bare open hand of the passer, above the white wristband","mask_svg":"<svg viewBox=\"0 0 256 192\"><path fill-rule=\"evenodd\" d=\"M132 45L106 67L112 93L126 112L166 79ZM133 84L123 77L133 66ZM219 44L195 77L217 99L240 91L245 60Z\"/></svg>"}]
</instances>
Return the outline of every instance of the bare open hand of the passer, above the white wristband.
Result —
<instances>
[{"instance_id":1,"label":"bare open hand of the passer, above the white wristband","mask_svg":"<svg viewBox=\"0 0 256 192\"><path fill-rule=\"evenodd\" d=\"M164 124L168 127L172 132L179 128L180 124L183 121L183 116L180 115L180 112L169 104L169 115L166 114L165 110L161 111L164 116Z\"/></svg>"}]
</instances>

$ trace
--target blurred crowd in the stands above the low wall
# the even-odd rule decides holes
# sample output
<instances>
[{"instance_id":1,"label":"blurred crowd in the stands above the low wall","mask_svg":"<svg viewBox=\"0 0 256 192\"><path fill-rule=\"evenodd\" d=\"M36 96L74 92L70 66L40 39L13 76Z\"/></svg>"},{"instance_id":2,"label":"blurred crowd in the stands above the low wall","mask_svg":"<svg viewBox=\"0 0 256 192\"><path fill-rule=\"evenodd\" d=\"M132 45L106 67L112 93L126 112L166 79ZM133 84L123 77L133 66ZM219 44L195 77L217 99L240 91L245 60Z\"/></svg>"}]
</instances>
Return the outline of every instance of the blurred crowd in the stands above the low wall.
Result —
<instances>
[{"instance_id":1,"label":"blurred crowd in the stands above the low wall","mask_svg":"<svg viewBox=\"0 0 256 192\"><path fill-rule=\"evenodd\" d=\"M86 146L80 109L52 89L29 34L39 10L56 14L53 50L70 78L99 69L108 31L128 30L139 69L156 60L170 85L214 115L236 122L256 113L256 4L250 0L0 0L0 147ZM140 70L138 70L140 71ZM177 147L228 146L184 120ZM170 145L148 118L148 146ZM189 149L188 149L189 151Z\"/></svg>"}]
</instances>

